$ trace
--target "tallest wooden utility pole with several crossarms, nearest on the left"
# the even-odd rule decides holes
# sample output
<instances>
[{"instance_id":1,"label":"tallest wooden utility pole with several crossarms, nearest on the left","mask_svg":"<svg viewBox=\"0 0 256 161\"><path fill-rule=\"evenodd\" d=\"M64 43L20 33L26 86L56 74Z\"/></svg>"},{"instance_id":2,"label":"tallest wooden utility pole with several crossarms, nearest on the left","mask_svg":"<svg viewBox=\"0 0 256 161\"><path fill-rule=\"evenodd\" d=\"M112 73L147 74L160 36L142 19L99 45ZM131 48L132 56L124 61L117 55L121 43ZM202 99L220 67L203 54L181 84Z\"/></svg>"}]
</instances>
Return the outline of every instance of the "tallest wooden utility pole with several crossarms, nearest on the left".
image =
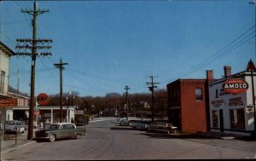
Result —
<instances>
[{"instance_id":1,"label":"tallest wooden utility pole with several crossarms, nearest on the left","mask_svg":"<svg viewBox=\"0 0 256 161\"><path fill-rule=\"evenodd\" d=\"M33 139L33 115L34 115L34 104L35 104L35 72L36 72L36 59L37 56L51 55L51 53L38 53L37 49L51 49L51 46L44 46L44 43L52 43L50 39L37 39L37 16L39 14L44 14L49 12L49 10L38 9L38 3L34 2L34 9L21 10L21 13L31 14L33 16L32 26L32 39L17 39L18 52L15 55L28 55L32 57L32 69L31 69L31 95L30 95L30 109L29 109L29 121L28 121L28 135L27 140ZM21 43L21 44L20 44ZM41 45L38 45L41 43ZM24 49L22 52L19 49ZM27 52L26 49L30 49L31 52Z\"/></svg>"}]
</instances>

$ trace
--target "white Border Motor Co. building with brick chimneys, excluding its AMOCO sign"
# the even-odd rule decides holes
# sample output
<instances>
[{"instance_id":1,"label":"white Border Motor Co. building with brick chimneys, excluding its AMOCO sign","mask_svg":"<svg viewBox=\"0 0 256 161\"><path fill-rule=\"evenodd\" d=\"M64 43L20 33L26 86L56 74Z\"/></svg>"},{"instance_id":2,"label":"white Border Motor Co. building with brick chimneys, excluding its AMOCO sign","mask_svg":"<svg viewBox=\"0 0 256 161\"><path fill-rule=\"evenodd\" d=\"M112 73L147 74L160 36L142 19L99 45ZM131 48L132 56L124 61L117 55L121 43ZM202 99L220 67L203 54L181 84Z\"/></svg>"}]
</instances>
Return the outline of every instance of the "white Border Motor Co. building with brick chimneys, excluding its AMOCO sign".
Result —
<instances>
[{"instance_id":1,"label":"white Border Motor Co. building with brick chimneys, excluding its AMOCO sign","mask_svg":"<svg viewBox=\"0 0 256 161\"><path fill-rule=\"evenodd\" d=\"M252 72L251 72L252 70ZM253 90L256 94L256 69L250 61L247 70L231 74L231 66L224 66L224 78L213 80L213 72L207 71L211 131L251 135L254 130ZM227 80L240 79L248 84L245 92L232 94L224 90ZM252 81L253 80L253 81ZM254 89L253 89L254 84Z\"/></svg>"}]
</instances>

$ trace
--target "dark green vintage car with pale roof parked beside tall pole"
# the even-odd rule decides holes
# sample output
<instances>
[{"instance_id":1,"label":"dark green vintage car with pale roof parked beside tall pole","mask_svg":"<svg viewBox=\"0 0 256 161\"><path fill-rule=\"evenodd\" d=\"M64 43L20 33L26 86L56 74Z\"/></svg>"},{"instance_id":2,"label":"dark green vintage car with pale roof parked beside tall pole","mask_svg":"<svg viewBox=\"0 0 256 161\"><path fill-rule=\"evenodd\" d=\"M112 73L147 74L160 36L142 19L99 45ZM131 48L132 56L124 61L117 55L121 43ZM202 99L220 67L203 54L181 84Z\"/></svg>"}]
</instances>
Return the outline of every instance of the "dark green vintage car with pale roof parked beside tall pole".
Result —
<instances>
[{"instance_id":1,"label":"dark green vintage car with pale roof parked beside tall pole","mask_svg":"<svg viewBox=\"0 0 256 161\"><path fill-rule=\"evenodd\" d=\"M35 140L49 140L51 142L60 138L77 138L86 134L85 126L77 128L72 123L50 124L49 129L40 129L35 131Z\"/></svg>"}]
</instances>

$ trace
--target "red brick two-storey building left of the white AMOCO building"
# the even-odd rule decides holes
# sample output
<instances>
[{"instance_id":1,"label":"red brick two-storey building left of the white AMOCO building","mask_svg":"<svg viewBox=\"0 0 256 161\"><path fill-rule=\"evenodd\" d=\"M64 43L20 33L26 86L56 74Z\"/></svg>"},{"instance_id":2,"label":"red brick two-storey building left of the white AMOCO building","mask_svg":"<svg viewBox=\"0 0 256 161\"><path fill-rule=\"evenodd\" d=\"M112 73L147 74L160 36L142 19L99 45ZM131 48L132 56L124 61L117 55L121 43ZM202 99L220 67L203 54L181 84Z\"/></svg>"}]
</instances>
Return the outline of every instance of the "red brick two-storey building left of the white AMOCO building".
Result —
<instances>
[{"instance_id":1,"label":"red brick two-storey building left of the white AMOCO building","mask_svg":"<svg viewBox=\"0 0 256 161\"><path fill-rule=\"evenodd\" d=\"M206 79L177 79L167 84L168 121L180 131L207 131Z\"/></svg>"}]
</instances>

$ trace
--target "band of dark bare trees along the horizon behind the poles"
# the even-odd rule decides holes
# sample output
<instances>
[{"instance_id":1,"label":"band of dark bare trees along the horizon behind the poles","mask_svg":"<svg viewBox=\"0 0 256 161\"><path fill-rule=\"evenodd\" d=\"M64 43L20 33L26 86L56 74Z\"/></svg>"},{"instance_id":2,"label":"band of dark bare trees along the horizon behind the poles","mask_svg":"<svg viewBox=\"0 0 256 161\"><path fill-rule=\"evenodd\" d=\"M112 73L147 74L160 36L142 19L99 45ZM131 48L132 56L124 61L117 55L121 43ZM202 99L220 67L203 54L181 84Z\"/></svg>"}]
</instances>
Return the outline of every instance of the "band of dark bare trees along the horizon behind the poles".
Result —
<instances>
[{"instance_id":1,"label":"band of dark bare trees along the horizon behind the poles","mask_svg":"<svg viewBox=\"0 0 256 161\"><path fill-rule=\"evenodd\" d=\"M63 94L62 105L75 105L79 110L83 110L87 114L100 117L125 117L125 95L118 93L108 93L105 96L79 96L78 92L72 98L68 93ZM71 100L67 100L71 99ZM60 106L60 95L50 95L48 106ZM137 116L143 110L150 114L151 112L151 93L136 93L128 96L129 100L129 116ZM147 105L147 106L146 106ZM143 108L143 109L142 109ZM158 89L154 91L154 113L155 117L165 118L167 116L167 92L166 89Z\"/></svg>"}]
</instances>

